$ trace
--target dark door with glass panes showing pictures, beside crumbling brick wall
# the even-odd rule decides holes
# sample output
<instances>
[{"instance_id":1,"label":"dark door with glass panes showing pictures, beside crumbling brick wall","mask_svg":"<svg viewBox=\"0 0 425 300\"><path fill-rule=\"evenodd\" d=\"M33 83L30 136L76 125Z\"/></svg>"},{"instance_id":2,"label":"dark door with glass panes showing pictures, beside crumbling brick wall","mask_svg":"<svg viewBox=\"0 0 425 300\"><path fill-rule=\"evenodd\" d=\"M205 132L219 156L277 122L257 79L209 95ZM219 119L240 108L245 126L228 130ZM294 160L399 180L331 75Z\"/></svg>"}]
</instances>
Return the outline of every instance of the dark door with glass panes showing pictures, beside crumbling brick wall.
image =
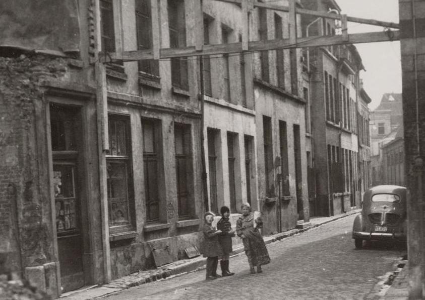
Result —
<instances>
[{"instance_id":1,"label":"dark door with glass panes showing pictures, beside crumbling brick wall","mask_svg":"<svg viewBox=\"0 0 425 300\"><path fill-rule=\"evenodd\" d=\"M57 248L62 292L84 285L81 230L81 188L79 152L81 121L79 110L50 106L53 190Z\"/></svg>"}]
</instances>

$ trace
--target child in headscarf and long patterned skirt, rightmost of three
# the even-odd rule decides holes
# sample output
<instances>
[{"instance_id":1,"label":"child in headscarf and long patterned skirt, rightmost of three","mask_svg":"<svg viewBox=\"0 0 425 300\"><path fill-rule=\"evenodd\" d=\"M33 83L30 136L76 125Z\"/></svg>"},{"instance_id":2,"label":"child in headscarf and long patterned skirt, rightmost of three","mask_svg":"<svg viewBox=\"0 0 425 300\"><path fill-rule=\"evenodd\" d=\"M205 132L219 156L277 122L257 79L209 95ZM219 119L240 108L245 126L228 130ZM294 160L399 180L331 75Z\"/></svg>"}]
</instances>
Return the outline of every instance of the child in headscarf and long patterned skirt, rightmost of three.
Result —
<instances>
[{"instance_id":1,"label":"child in headscarf and long patterned skirt, rightmost of three","mask_svg":"<svg viewBox=\"0 0 425 300\"><path fill-rule=\"evenodd\" d=\"M236 221L236 234L242 238L244 243L245 254L248 257L251 273L263 272L262 265L270 262L269 253L267 252L266 244L260 234L259 228L263 227L261 218L254 220L254 214L251 213L251 205L248 203L242 204L242 216ZM256 226L254 226L256 224Z\"/></svg>"}]
</instances>

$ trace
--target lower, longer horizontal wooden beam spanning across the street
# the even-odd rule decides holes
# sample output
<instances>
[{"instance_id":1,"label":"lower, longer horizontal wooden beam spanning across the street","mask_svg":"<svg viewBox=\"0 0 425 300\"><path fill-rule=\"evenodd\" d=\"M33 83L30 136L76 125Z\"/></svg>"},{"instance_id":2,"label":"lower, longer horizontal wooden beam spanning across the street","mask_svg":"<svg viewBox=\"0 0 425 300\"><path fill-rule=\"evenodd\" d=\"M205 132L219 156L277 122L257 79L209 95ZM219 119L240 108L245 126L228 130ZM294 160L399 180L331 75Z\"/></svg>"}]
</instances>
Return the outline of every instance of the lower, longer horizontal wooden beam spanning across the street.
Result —
<instances>
[{"instance_id":1,"label":"lower, longer horizontal wooden beam spanning across the street","mask_svg":"<svg viewBox=\"0 0 425 300\"><path fill-rule=\"evenodd\" d=\"M280 40L267 40L267 41L250 41L248 51L242 50L242 43L229 43L218 45L204 45L202 51L196 51L195 47L186 48L163 48L160 51L161 59L171 57L189 57L199 55L221 55L226 53L239 53L239 52L254 52L275 49L290 49L290 48L303 48L303 47L320 47L331 45L343 44L360 44L360 43L374 43L386 41L400 40L400 31L391 31L390 33L366 32L366 33L353 33L348 35L348 39L344 40L342 35L334 36L312 36L297 38L296 43L291 43L289 39ZM124 60L135 61L141 59L153 58L150 50L137 50L125 51L123 53L110 53L107 57L103 55L101 61Z\"/></svg>"}]
</instances>

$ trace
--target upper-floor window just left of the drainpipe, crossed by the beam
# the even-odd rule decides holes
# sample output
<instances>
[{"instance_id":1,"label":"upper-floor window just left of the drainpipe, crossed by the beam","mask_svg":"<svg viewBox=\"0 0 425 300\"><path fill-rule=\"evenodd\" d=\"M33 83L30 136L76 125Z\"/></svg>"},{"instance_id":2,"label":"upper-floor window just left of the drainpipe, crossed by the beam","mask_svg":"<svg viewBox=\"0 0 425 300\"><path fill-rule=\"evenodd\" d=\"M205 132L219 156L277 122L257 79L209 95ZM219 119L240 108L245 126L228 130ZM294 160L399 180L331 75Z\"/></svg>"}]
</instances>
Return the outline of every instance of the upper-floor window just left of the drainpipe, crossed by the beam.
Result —
<instances>
[{"instance_id":1,"label":"upper-floor window just left of the drainpipe, crossed by the beam","mask_svg":"<svg viewBox=\"0 0 425 300\"><path fill-rule=\"evenodd\" d=\"M168 29L170 48L186 47L185 3L181 0L168 0ZM188 90L188 59L171 58L171 83Z\"/></svg>"}]
</instances>

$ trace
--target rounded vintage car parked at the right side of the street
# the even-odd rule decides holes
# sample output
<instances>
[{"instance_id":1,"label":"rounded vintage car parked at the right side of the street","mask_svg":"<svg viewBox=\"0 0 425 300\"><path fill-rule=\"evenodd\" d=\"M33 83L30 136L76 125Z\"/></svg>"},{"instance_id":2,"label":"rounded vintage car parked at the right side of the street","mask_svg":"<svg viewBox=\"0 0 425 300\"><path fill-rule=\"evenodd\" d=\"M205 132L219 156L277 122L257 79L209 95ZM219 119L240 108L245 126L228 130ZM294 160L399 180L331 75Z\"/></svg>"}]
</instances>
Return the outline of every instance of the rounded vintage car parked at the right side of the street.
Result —
<instances>
[{"instance_id":1,"label":"rounded vintage car parked at the right side of the street","mask_svg":"<svg viewBox=\"0 0 425 300\"><path fill-rule=\"evenodd\" d=\"M405 241L406 188L398 185L377 185L363 194L361 213L354 219L354 244L357 249L363 240Z\"/></svg>"}]
</instances>

